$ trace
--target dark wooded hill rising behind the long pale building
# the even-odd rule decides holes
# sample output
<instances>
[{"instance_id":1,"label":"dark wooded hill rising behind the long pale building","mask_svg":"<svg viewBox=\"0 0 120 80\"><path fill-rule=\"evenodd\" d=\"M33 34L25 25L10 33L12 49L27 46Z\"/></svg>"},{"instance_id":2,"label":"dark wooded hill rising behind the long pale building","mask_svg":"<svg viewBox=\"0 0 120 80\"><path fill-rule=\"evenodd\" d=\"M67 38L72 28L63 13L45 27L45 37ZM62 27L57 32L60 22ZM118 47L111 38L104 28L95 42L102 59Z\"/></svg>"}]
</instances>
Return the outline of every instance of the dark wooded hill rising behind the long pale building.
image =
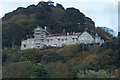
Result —
<instances>
[{"instance_id":1,"label":"dark wooded hill rising behind the long pale building","mask_svg":"<svg viewBox=\"0 0 120 80\"><path fill-rule=\"evenodd\" d=\"M33 29L37 25L47 26L50 33L61 33L63 30L83 32L86 28L93 36L97 32L105 40L111 40L113 37L102 28L95 28L92 19L78 9L65 9L61 4L54 6L48 5L48 2L39 2L27 8L19 7L5 14L2 20L3 47L20 46L21 40L26 39L26 36L33 37Z\"/></svg>"}]
</instances>

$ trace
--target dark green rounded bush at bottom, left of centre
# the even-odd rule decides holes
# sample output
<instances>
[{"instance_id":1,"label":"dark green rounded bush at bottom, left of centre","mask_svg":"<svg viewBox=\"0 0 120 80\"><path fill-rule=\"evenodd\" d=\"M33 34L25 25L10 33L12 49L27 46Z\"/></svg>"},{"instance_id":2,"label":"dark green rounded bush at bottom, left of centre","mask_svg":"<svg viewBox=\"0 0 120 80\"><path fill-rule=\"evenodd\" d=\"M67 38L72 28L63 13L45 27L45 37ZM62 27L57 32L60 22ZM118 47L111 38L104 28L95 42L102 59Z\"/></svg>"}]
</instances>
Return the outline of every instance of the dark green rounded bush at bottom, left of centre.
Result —
<instances>
[{"instance_id":1,"label":"dark green rounded bush at bottom, left of centre","mask_svg":"<svg viewBox=\"0 0 120 80\"><path fill-rule=\"evenodd\" d=\"M49 78L50 74L46 66L42 64L37 64L33 68L33 74L37 78Z\"/></svg>"}]
</instances>

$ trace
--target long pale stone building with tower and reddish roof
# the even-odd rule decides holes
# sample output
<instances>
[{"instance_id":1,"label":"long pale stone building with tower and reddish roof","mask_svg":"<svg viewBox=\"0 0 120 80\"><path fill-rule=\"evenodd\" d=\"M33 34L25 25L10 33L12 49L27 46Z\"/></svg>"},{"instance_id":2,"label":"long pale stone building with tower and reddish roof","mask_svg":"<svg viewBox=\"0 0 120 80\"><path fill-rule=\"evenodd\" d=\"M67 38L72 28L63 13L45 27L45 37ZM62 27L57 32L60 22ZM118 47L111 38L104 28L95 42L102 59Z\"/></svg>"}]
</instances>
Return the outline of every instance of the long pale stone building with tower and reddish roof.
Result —
<instances>
[{"instance_id":1,"label":"long pale stone building with tower and reddish roof","mask_svg":"<svg viewBox=\"0 0 120 80\"><path fill-rule=\"evenodd\" d=\"M93 37L87 31L84 32L67 32L60 34L49 34L46 27L37 27L34 29L34 38L29 38L27 40L22 40L21 50L32 49L32 48L42 48L46 46L62 47L71 44L102 44L104 42L97 34Z\"/></svg>"}]
</instances>

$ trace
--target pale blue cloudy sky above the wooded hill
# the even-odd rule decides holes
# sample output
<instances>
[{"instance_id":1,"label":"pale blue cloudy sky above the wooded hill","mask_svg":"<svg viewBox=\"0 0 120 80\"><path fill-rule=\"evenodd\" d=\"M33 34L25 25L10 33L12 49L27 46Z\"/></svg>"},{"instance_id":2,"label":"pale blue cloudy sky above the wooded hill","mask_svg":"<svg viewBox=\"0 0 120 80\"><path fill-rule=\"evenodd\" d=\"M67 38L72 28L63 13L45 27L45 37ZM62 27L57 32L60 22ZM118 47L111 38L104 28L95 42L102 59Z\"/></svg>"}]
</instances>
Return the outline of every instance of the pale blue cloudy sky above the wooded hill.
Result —
<instances>
[{"instance_id":1,"label":"pale blue cloudy sky above the wooded hill","mask_svg":"<svg viewBox=\"0 0 120 80\"><path fill-rule=\"evenodd\" d=\"M38 4L41 0L0 0L0 18L5 13L12 12L18 7L27 7ZM48 1L48 0L43 0ZM105 26L118 30L118 0L52 0L62 4L65 8L74 7L80 10L86 17L90 17L95 26Z\"/></svg>"}]
</instances>

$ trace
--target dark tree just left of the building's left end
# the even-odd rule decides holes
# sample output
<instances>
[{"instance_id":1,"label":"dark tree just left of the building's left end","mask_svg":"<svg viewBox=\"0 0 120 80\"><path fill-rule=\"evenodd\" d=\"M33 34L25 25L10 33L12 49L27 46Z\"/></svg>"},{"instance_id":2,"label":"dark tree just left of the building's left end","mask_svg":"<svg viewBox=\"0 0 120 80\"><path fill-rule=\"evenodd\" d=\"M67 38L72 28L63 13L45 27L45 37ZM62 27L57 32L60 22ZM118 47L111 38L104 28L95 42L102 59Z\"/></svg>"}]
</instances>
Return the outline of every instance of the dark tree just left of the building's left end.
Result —
<instances>
[{"instance_id":1,"label":"dark tree just left of the building's left end","mask_svg":"<svg viewBox=\"0 0 120 80\"><path fill-rule=\"evenodd\" d=\"M3 27L3 47L12 47L20 45L24 32L19 25L8 23Z\"/></svg>"}]
</instances>

